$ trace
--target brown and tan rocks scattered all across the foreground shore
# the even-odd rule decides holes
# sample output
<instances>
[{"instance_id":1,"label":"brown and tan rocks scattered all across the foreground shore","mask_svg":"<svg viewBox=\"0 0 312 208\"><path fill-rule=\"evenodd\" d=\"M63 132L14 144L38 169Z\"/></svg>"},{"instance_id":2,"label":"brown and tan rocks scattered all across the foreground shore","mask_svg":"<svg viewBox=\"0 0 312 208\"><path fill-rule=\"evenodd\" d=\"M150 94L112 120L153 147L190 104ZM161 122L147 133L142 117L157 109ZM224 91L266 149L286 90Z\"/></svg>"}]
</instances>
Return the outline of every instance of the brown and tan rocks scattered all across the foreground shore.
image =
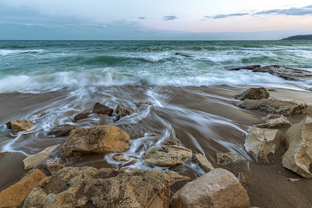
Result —
<instances>
[{"instance_id":1,"label":"brown and tan rocks scattered all across the foreground shore","mask_svg":"<svg viewBox=\"0 0 312 208\"><path fill-rule=\"evenodd\" d=\"M274 154L283 146L287 150L281 157L282 165L302 177L311 178L312 119L309 116L309 106L299 101L270 98L263 87L250 88L234 98L235 105L241 107L241 110L268 114L263 117L265 123L250 128L244 144L254 159L259 163L270 163L268 155ZM116 116L116 121L119 121L124 116L135 113L135 110L123 105L118 105L113 110L96 103L92 112L80 112L74 116L73 121L87 119L90 114ZM291 123L285 117L297 114L306 114L300 123ZM9 121L7 126L17 134L19 131L30 130L32 122L29 119L17 119ZM246 180L248 183L252 179L246 179L243 173L236 177L225 168L214 168L215 165L205 155L195 153L173 140L168 139L148 148L144 164L173 167L193 160L205 174L190 181L186 175L172 171L96 169L87 166L73 168L64 161L84 154L120 153L114 157L119 162L135 159L123 155L133 137L114 125L96 125L90 128L60 125L48 135L67 137L60 151L62 160L46 160L58 145L26 157L23 161L25 169L42 166L41 171L35 168L19 182L1 191L0 205L3 207L250 207L248 191L244 186ZM159 135L150 132L150 136ZM247 159L243 155L216 155L218 165L227 166L240 160ZM171 185L181 181L184 181L184 186L171 196ZM295 182L292 179L290 181Z\"/></svg>"}]
</instances>

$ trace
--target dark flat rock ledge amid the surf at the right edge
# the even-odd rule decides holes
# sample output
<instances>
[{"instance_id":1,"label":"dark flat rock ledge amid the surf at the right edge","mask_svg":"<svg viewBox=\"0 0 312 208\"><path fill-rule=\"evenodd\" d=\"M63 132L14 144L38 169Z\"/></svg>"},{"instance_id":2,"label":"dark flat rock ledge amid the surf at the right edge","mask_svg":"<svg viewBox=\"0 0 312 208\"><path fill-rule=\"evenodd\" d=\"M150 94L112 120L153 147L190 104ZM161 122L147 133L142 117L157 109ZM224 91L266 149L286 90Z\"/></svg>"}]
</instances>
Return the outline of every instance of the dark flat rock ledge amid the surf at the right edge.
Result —
<instances>
[{"instance_id":1,"label":"dark flat rock ledge amid the surf at the right edge","mask_svg":"<svg viewBox=\"0 0 312 208\"><path fill-rule=\"evenodd\" d=\"M281 67L278 65L271 65L266 67L260 67L252 70L253 72L267 72L287 80L306 79L311 80L312 72L303 69L294 69L291 67Z\"/></svg>"}]
</instances>

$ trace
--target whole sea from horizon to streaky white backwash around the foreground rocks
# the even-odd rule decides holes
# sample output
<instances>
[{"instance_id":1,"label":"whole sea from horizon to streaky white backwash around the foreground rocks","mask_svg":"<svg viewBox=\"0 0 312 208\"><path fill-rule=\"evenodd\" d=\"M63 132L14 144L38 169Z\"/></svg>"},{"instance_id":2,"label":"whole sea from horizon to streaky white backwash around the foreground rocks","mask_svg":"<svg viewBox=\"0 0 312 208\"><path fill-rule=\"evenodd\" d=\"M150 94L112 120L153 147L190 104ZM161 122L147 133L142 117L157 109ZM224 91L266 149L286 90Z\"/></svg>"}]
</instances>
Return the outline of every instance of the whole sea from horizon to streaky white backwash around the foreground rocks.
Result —
<instances>
[{"instance_id":1,"label":"whole sea from horizon to streaky white backwash around the foreground rocks","mask_svg":"<svg viewBox=\"0 0 312 208\"><path fill-rule=\"evenodd\" d=\"M234 106L234 94L253 86L308 92L312 80L230 69L277 64L312 70L312 41L0 41L0 152L25 157L67 137L49 137L58 125L116 125L131 137L123 155L116 153L73 158L68 164L162 169L144 165L144 153L171 139L216 162L216 153L241 154L251 160L243 143L251 121L262 114ZM116 113L90 114L96 102L135 114L116 121ZM249 118L249 120L244 120ZM14 135L13 119L31 119L33 128ZM153 136L151 136L153 134ZM156 135L156 137L155 137ZM60 158L61 146L50 159ZM194 162L178 171L194 175Z\"/></svg>"}]
</instances>

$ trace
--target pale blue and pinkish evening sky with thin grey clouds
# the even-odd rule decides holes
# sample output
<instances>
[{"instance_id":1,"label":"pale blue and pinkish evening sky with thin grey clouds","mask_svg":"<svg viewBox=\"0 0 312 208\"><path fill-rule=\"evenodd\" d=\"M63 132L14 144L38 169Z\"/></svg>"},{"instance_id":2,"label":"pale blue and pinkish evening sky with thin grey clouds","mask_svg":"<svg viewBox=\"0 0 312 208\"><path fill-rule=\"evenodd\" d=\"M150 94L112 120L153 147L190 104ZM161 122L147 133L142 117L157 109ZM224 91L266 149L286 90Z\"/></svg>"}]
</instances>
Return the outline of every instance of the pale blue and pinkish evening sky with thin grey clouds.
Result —
<instances>
[{"instance_id":1,"label":"pale blue and pinkish evening sky with thin grey clouds","mask_svg":"<svg viewBox=\"0 0 312 208\"><path fill-rule=\"evenodd\" d=\"M279 40L311 0L0 0L0 40Z\"/></svg>"}]
</instances>

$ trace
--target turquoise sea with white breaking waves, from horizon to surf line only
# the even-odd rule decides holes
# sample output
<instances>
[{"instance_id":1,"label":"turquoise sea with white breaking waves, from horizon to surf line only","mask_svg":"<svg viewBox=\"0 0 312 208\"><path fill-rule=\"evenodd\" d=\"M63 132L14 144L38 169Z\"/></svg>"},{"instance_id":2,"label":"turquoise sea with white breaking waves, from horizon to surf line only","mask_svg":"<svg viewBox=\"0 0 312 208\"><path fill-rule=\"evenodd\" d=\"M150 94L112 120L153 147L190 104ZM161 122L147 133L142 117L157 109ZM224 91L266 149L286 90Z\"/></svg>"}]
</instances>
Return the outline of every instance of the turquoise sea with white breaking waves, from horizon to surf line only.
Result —
<instances>
[{"instance_id":1,"label":"turquoise sea with white breaking waves, from horizon to surf line only","mask_svg":"<svg viewBox=\"0 0 312 208\"><path fill-rule=\"evenodd\" d=\"M288 82L266 73L228 70L250 64L311 69L312 42L0 41L0 92L42 93L81 86ZM311 82L298 84L309 87Z\"/></svg>"}]
</instances>

